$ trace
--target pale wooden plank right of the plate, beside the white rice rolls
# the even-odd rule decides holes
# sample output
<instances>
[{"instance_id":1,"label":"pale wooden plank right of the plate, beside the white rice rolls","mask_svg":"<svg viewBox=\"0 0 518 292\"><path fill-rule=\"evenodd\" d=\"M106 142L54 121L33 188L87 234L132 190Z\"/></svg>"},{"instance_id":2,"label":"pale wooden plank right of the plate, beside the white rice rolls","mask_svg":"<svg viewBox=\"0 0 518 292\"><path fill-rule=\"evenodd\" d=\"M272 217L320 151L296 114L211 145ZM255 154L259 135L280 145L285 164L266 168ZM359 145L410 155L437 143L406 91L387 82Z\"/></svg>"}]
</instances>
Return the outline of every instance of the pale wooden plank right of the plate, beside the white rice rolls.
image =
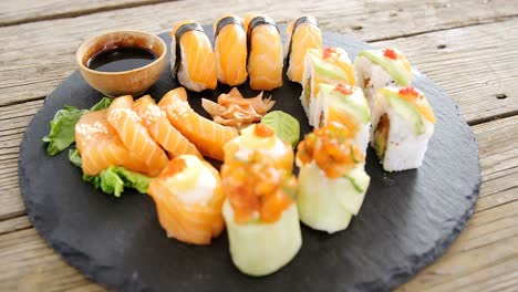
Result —
<instances>
[{"instance_id":1,"label":"pale wooden plank right of the plate, beside the white rice rolls","mask_svg":"<svg viewBox=\"0 0 518 292\"><path fill-rule=\"evenodd\" d=\"M477 124L518 113L518 66L510 65L518 63L514 49L518 33L504 31L518 31L518 19L373 44L406 52L417 69L457 102L463 116Z\"/></svg>"}]
</instances>

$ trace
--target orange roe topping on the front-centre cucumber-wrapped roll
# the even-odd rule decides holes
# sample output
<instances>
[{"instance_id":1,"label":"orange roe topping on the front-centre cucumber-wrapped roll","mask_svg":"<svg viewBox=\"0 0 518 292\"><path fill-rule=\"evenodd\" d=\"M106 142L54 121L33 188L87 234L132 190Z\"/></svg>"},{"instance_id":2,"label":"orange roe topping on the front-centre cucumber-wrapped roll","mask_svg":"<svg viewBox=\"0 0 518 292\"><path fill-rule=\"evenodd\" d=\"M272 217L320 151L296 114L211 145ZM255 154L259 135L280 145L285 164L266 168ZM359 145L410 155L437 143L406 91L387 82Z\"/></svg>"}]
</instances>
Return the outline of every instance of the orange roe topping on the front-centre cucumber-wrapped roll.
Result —
<instances>
[{"instance_id":1,"label":"orange roe topping on the front-centre cucumber-wrapped roll","mask_svg":"<svg viewBox=\"0 0 518 292\"><path fill-rule=\"evenodd\" d=\"M221 167L222 188L232 207L235 220L271 223L293 204L297 179L291 173L268 163L232 161Z\"/></svg>"}]
</instances>

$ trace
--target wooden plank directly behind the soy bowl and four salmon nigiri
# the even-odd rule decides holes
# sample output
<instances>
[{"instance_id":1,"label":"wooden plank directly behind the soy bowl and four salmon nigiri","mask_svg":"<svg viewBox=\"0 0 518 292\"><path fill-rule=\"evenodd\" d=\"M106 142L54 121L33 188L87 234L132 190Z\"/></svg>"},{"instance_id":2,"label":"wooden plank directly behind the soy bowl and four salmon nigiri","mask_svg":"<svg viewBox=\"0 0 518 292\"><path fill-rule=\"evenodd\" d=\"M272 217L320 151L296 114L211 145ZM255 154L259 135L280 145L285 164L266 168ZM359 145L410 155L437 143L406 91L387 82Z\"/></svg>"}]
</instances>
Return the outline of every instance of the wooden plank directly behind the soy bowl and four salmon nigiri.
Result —
<instances>
[{"instance_id":1,"label":"wooden plank directly behind the soy bowl and four salmon nigiri","mask_svg":"<svg viewBox=\"0 0 518 292\"><path fill-rule=\"evenodd\" d=\"M262 11L279 22L312 13L321 20L324 30L350 33L364 41L493 22L514 17L518 14L517 10L515 3L506 0L475 3L469 0L438 3L379 0L348 1L340 6L334 0L286 0L247 1L231 7L231 11L238 14ZM213 1L210 9L203 1L169 2L0 28L0 88L4 96L0 100L0 105L41 98L49 94L75 70L75 50L87 36L116 29L139 29L158 33L169 30L175 22L185 18L211 23L227 12L229 4L224 0ZM503 35L500 42L505 43L505 39L511 38L510 35Z\"/></svg>"}]
</instances>

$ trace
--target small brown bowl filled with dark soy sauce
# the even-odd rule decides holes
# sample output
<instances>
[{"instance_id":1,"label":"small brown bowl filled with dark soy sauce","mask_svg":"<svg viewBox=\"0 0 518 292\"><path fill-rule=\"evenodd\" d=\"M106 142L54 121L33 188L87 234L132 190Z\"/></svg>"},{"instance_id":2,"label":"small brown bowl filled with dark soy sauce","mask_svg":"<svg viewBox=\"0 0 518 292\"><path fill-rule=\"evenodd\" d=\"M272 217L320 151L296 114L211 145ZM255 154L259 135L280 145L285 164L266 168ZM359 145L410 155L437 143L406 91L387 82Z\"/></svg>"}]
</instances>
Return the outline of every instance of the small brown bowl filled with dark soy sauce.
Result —
<instances>
[{"instance_id":1,"label":"small brown bowl filled with dark soy sauce","mask_svg":"<svg viewBox=\"0 0 518 292\"><path fill-rule=\"evenodd\" d=\"M85 81L110 97L138 96L166 65L165 42L143 31L113 31L85 41L75 61Z\"/></svg>"}]
</instances>

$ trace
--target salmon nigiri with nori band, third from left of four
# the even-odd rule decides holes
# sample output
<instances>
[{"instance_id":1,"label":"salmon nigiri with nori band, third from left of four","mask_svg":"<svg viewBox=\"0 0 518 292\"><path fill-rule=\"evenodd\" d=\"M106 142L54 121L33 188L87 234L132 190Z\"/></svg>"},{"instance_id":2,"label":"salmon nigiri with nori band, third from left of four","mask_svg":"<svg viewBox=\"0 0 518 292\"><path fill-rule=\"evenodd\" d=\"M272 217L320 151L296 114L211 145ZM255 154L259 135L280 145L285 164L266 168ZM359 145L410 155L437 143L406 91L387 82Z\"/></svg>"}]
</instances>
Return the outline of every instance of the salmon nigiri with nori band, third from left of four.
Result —
<instances>
[{"instance_id":1,"label":"salmon nigiri with nori band, third from left of four","mask_svg":"<svg viewBox=\"0 0 518 292\"><path fill-rule=\"evenodd\" d=\"M250 87L271 91L282 86L282 42L273 19L261 14L245 17L248 40Z\"/></svg>"}]
</instances>

